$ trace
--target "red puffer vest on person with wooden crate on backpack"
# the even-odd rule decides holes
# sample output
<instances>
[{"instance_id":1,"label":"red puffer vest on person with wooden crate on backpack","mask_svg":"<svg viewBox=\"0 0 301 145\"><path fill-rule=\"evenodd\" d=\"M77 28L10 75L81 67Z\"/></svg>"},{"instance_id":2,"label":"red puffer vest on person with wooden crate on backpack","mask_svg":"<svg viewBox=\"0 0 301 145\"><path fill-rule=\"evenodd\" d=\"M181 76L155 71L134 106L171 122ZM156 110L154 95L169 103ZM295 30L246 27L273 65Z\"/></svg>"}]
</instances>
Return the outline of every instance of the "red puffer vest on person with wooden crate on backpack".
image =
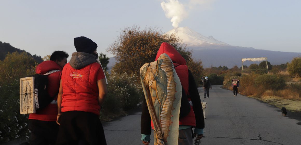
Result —
<instances>
[{"instance_id":1,"label":"red puffer vest on person with wooden crate on backpack","mask_svg":"<svg viewBox=\"0 0 301 145\"><path fill-rule=\"evenodd\" d=\"M36 74L45 74L48 71L59 70L52 74L47 75L48 77L48 94L51 97L54 97L54 100L57 100L58 90L60 88L60 80L62 75L62 68L57 65L54 61L45 61L40 63L36 67ZM45 108L41 110L36 110L36 113L29 114L28 119L35 119L41 121L56 121L57 119L57 104L48 104Z\"/></svg>"}]
</instances>

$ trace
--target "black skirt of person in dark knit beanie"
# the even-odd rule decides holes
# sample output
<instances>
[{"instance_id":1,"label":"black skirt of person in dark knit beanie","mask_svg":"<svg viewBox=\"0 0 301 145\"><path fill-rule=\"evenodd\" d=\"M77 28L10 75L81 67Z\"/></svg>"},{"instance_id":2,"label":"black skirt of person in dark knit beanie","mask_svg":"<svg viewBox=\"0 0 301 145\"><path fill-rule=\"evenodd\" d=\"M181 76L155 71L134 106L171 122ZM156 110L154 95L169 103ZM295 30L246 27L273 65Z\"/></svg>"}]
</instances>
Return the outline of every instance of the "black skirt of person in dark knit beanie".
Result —
<instances>
[{"instance_id":1,"label":"black skirt of person in dark knit beanie","mask_svg":"<svg viewBox=\"0 0 301 145\"><path fill-rule=\"evenodd\" d=\"M104 129L96 114L67 111L60 117L57 144L106 145L107 143Z\"/></svg>"}]
</instances>

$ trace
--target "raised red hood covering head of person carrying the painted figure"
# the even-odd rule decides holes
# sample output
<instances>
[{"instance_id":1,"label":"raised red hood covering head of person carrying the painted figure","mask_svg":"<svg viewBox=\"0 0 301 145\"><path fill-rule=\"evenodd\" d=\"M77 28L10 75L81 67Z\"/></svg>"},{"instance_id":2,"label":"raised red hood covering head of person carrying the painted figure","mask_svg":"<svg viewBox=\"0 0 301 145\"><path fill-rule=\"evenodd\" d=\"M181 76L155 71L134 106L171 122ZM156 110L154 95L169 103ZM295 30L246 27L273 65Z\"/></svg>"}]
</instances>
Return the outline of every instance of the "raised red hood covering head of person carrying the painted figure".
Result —
<instances>
[{"instance_id":1,"label":"raised red hood covering head of person carrying the painted figure","mask_svg":"<svg viewBox=\"0 0 301 145\"><path fill-rule=\"evenodd\" d=\"M163 42L158 50L156 60L160 57L161 54L166 53L173 62L176 62L179 65L186 65L186 60L172 47L170 44Z\"/></svg>"}]
</instances>

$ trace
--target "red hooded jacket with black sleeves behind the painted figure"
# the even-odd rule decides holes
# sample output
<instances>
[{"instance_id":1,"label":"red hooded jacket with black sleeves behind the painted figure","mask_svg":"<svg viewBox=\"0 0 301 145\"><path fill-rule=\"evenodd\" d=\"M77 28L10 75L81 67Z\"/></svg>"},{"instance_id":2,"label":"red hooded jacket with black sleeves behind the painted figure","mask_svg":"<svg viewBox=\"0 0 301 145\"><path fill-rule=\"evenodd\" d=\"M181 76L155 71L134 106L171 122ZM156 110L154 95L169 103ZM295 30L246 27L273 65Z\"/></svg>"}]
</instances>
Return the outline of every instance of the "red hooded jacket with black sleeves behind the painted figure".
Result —
<instances>
[{"instance_id":1,"label":"red hooded jacket with black sleeves behind the painted figure","mask_svg":"<svg viewBox=\"0 0 301 145\"><path fill-rule=\"evenodd\" d=\"M195 126L199 129L204 128L204 118L200 96L197 91L195 80L191 72L188 70L185 59L180 53L178 53L177 50L175 50L174 47L168 43L161 44L156 56L156 60L163 53L166 53L174 62L175 71L180 78L182 88L184 89L186 95L188 95L188 100L192 102L192 106L190 106L191 108L182 108L183 101L181 101L180 115L182 109L188 109L189 113L187 116L180 118L179 125ZM149 116L149 112L147 107L145 107L145 104L146 102L144 101L141 115L141 134L151 134L151 127L153 127L153 123L151 122L151 117ZM151 125L147 125L147 122L151 122Z\"/></svg>"}]
</instances>

